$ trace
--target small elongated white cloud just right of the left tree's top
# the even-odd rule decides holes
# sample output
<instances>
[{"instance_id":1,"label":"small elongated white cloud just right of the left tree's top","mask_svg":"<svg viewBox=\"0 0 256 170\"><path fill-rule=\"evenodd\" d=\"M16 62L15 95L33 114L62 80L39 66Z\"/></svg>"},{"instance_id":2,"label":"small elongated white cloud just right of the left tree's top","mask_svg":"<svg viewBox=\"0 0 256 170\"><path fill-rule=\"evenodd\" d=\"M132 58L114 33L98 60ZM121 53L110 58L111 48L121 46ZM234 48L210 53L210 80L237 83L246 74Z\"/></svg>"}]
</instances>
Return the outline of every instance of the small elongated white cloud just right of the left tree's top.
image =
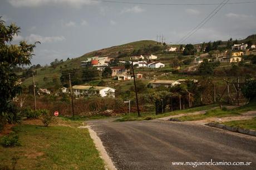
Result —
<instances>
[{"instance_id":1,"label":"small elongated white cloud just right of the left tree's top","mask_svg":"<svg viewBox=\"0 0 256 170\"><path fill-rule=\"evenodd\" d=\"M37 41L40 41L41 43L51 43L63 40L65 40L65 37L63 36L43 37L37 34L30 34L26 37L26 41L29 43L34 43Z\"/></svg>"}]
</instances>

